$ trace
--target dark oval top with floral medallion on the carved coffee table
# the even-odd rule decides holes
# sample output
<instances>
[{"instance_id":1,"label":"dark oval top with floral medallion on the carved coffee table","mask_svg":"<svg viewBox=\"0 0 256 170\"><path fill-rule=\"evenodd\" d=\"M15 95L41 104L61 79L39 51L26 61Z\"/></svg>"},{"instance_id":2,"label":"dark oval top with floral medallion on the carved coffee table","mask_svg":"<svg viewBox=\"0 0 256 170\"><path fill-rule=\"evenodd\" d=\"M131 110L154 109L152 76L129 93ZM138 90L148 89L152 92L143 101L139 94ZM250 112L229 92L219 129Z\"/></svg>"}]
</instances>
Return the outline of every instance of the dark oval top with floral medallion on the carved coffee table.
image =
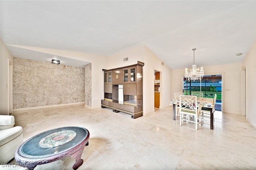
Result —
<instances>
[{"instance_id":1,"label":"dark oval top with floral medallion on the carved coffee table","mask_svg":"<svg viewBox=\"0 0 256 170\"><path fill-rule=\"evenodd\" d=\"M28 139L20 146L18 153L26 158L49 157L74 148L87 136L88 131L82 127L56 128Z\"/></svg>"}]
</instances>

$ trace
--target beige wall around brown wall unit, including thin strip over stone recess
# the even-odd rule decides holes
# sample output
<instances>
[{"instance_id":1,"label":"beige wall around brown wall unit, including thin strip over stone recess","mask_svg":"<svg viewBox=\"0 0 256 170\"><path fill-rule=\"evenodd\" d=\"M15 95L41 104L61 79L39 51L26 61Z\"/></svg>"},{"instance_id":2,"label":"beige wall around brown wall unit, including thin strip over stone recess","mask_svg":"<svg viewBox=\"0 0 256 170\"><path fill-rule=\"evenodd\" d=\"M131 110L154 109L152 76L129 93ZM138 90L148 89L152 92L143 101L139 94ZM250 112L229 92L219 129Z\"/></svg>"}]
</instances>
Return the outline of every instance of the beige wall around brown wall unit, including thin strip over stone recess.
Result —
<instances>
[{"instance_id":1,"label":"beige wall around brown wall unit, including thin strip over stone recess","mask_svg":"<svg viewBox=\"0 0 256 170\"><path fill-rule=\"evenodd\" d=\"M161 72L162 86L160 88L160 108L169 105L170 97L170 75L171 70L166 65L162 65L162 61L145 45L138 45L131 49L127 49L120 53L116 53L109 57L103 55L93 55L87 53L76 53L73 51L60 51L55 49L45 49L37 47L23 47L26 49L59 55L81 61L91 62L92 66L92 108L99 108L100 101L104 98L103 89L103 71L102 69L111 69L127 65L136 64L137 61L145 63L143 67L143 92L144 92L144 113L154 111L154 70ZM124 62L123 59L128 57L128 61ZM90 104L89 104L90 106Z\"/></svg>"}]
</instances>

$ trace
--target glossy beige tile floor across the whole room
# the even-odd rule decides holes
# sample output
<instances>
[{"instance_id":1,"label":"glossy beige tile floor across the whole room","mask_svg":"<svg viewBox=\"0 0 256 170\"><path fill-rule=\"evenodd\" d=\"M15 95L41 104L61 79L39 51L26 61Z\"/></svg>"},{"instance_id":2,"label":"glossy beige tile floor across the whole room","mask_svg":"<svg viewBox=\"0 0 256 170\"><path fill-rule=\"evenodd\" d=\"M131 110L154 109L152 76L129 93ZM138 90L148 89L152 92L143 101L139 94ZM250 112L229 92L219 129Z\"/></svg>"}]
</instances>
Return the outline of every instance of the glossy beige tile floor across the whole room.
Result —
<instances>
[{"instance_id":1,"label":"glossy beige tile floor across the whole room","mask_svg":"<svg viewBox=\"0 0 256 170\"><path fill-rule=\"evenodd\" d=\"M19 111L16 125L24 140L43 131L82 126L90 132L89 146L78 170L256 169L256 129L242 115L215 112L214 130L203 123L179 125L172 120L172 106L131 119L111 109L83 105ZM70 156L35 170L71 170ZM15 163L15 160L12 160Z\"/></svg>"}]
</instances>

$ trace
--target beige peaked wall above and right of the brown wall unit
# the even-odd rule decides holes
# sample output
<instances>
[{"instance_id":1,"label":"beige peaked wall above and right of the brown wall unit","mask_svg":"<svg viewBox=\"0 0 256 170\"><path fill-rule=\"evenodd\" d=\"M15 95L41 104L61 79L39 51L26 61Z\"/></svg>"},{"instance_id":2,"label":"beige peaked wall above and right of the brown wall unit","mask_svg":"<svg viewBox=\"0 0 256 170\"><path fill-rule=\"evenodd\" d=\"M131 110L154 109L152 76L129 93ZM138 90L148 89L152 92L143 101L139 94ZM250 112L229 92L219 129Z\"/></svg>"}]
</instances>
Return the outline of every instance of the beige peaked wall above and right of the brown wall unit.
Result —
<instances>
[{"instance_id":1,"label":"beige peaked wall above and right of the brown wall unit","mask_svg":"<svg viewBox=\"0 0 256 170\"><path fill-rule=\"evenodd\" d=\"M123 61L128 57L128 61ZM146 45L138 45L109 57L108 68L117 68L143 62L143 112L144 115L154 111L154 70L162 72L162 86L160 89L160 108L169 106L170 73L168 66L163 66L162 61Z\"/></svg>"}]
</instances>

